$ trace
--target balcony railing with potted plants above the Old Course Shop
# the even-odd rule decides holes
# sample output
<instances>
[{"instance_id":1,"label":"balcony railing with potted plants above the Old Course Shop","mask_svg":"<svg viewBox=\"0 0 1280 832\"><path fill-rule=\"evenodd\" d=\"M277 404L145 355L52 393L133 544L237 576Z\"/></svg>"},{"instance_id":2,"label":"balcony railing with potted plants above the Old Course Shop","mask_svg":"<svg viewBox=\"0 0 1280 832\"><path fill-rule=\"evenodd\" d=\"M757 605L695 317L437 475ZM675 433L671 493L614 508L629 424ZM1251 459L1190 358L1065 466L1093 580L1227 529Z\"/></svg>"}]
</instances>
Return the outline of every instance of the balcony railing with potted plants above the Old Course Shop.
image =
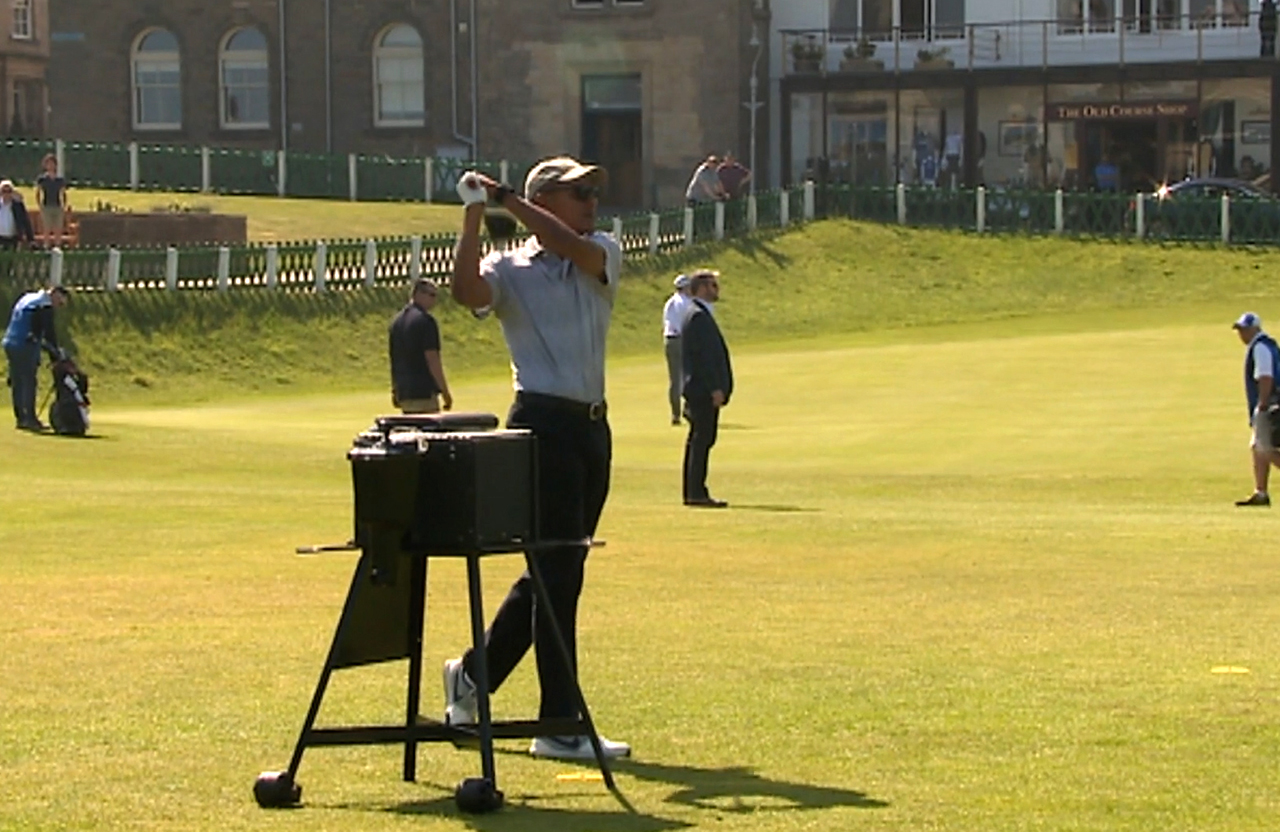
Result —
<instances>
[{"instance_id":1,"label":"balcony railing with potted plants above the Old Course Shop","mask_svg":"<svg viewBox=\"0 0 1280 832\"><path fill-rule=\"evenodd\" d=\"M783 67L786 74L831 74L1257 59L1262 56L1258 17L1258 12L1226 10L893 27L887 32L783 29ZM1271 51L1266 59L1276 60Z\"/></svg>"}]
</instances>

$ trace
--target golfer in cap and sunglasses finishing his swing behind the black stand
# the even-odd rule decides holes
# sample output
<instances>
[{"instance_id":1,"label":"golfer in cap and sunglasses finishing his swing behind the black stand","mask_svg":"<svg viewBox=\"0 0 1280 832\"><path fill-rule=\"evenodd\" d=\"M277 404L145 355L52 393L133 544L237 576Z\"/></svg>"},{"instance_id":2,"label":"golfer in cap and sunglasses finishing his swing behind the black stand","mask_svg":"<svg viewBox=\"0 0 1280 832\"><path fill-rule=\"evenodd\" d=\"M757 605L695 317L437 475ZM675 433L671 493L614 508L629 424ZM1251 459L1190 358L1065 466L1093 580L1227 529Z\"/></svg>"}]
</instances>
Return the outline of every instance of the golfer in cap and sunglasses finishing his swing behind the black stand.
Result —
<instances>
[{"instance_id":1,"label":"golfer in cap and sunglasses finishing his swing behind the black stand","mask_svg":"<svg viewBox=\"0 0 1280 832\"><path fill-rule=\"evenodd\" d=\"M564 667L544 626L526 571L511 588L485 639L490 686L497 691L530 645L536 649L540 718L579 718L577 600L586 541L595 534L609 493L612 434L604 402L604 343L622 269L622 248L595 230L605 172L567 156L547 159L525 179L524 196L477 173L460 187L466 205L453 266L453 297L472 310L489 307L511 352L516 401L508 428L534 433L539 461L539 527L545 539L582 541L530 553L536 558L573 667ZM492 198L525 224L524 244L480 261L480 225ZM476 721L476 657L444 663L449 723ZM608 756L631 748L600 737ZM536 737L530 753L593 759L586 736Z\"/></svg>"}]
</instances>

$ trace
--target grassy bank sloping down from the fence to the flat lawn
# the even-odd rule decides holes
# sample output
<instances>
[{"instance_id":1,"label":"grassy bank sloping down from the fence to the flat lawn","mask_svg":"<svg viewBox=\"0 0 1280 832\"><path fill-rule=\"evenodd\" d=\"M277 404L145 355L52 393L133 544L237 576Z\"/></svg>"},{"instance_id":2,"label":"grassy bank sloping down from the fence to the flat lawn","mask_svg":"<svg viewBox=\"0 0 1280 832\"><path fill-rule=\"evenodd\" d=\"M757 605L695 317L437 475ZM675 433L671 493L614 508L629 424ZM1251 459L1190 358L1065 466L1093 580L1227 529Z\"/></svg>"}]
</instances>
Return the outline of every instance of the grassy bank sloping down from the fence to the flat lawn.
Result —
<instances>
[{"instance_id":1,"label":"grassy bank sloping down from the fence to the flat lawn","mask_svg":"<svg viewBox=\"0 0 1280 832\"><path fill-rule=\"evenodd\" d=\"M1229 320L1240 303L1256 298L1265 306L1280 252L819 223L630 264L611 337L614 356L657 348L671 275L694 265L724 273L724 325L745 347L859 334L902 339L922 328L929 328L922 337L937 338L938 325L991 320L1009 321L1011 332L1020 320L1032 328L1098 326L1115 311L1204 303L1221 305ZM146 403L233 389L380 387L387 321L402 302L402 292L393 289L321 297L123 293L78 298L65 317L99 389ZM1171 312L1148 314L1160 320ZM1056 320L1046 324L1044 316ZM506 355L493 320L477 323L448 298L439 317L451 371L503 371Z\"/></svg>"}]
</instances>

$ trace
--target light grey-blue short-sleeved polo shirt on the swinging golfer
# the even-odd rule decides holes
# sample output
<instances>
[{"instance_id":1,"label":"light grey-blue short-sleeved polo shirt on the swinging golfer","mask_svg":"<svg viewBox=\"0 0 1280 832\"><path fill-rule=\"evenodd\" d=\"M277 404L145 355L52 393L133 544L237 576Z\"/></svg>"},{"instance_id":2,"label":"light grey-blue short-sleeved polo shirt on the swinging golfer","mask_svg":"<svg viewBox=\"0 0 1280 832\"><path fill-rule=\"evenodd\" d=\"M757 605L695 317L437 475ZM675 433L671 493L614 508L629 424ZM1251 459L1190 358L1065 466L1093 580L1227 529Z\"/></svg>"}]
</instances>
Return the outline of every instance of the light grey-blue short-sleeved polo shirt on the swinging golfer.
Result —
<instances>
[{"instance_id":1,"label":"light grey-blue short-sleeved polo shirt on the swinging golfer","mask_svg":"<svg viewBox=\"0 0 1280 832\"><path fill-rule=\"evenodd\" d=\"M480 262L493 314L511 351L517 390L576 402L604 401L604 346L622 274L611 234L588 236L604 250L604 279L543 248L536 237Z\"/></svg>"}]
</instances>

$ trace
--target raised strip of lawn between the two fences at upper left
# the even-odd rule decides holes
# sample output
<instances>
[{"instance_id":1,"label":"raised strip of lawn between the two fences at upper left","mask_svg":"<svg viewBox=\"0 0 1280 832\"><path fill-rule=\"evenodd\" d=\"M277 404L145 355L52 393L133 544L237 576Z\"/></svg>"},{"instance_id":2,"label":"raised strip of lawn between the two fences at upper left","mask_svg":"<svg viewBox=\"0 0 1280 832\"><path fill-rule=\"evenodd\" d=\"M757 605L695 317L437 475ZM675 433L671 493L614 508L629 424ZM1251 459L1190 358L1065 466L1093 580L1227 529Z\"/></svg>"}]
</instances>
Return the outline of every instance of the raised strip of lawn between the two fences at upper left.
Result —
<instances>
[{"instance_id":1,"label":"raised strip of lawn between the two fences at upper left","mask_svg":"<svg viewBox=\"0 0 1280 832\"><path fill-rule=\"evenodd\" d=\"M453 233L461 228L456 205L421 202L346 202L342 200L294 200L270 196L216 196L161 193L154 191L95 191L72 188L73 211L95 210L99 202L116 209L151 211L172 206L209 207L219 214L248 218L248 238L255 243L289 239L365 239Z\"/></svg>"}]
</instances>

